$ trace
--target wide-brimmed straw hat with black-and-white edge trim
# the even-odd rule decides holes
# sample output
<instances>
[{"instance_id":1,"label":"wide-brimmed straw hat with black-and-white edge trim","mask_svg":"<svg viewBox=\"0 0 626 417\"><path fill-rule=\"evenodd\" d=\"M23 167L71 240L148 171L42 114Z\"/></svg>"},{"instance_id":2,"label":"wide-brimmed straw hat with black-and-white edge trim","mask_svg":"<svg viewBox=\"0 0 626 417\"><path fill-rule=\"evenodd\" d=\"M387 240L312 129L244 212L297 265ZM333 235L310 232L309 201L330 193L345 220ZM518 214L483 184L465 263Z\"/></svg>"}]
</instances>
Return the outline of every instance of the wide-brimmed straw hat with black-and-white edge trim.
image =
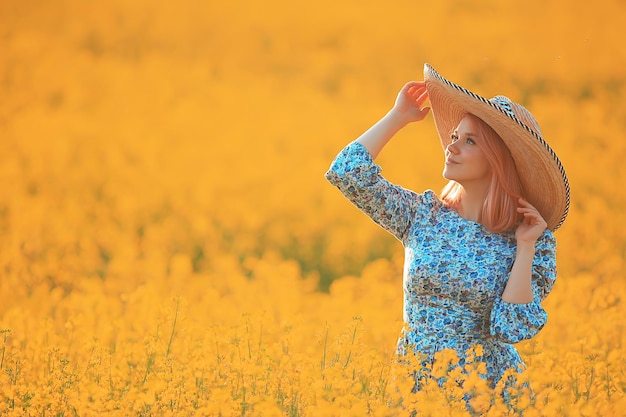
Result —
<instances>
[{"instance_id":1,"label":"wide-brimmed straw hat with black-and-white edge trim","mask_svg":"<svg viewBox=\"0 0 626 417\"><path fill-rule=\"evenodd\" d=\"M472 93L443 78L429 64L424 65L424 81L442 146L450 143L450 132L465 114L482 119L511 151L525 197L539 210L548 229L558 229L569 211L569 182L533 115L505 96L487 100Z\"/></svg>"}]
</instances>

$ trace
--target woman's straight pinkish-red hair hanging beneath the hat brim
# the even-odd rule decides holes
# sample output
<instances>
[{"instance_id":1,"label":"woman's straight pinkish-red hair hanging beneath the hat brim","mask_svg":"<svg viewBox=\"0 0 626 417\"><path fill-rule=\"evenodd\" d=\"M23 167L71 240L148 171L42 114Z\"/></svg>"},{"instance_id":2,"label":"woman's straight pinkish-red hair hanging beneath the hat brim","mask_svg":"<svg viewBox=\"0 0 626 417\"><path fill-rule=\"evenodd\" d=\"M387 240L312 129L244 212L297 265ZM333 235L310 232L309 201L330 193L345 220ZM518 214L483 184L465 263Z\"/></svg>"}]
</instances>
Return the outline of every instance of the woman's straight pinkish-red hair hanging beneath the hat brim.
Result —
<instances>
[{"instance_id":1,"label":"woman's straight pinkish-red hair hanging beneath the hat brim","mask_svg":"<svg viewBox=\"0 0 626 417\"><path fill-rule=\"evenodd\" d=\"M480 222L490 232L512 230L520 219L517 213L518 199L523 197L522 184L515 168L509 148L500 136L479 117L469 114L478 121L478 134L483 138L478 146L483 150L491 166L491 183L483 204ZM450 181L441 192L441 199L448 207L458 209L463 187Z\"/></svg>"}]
</instances>

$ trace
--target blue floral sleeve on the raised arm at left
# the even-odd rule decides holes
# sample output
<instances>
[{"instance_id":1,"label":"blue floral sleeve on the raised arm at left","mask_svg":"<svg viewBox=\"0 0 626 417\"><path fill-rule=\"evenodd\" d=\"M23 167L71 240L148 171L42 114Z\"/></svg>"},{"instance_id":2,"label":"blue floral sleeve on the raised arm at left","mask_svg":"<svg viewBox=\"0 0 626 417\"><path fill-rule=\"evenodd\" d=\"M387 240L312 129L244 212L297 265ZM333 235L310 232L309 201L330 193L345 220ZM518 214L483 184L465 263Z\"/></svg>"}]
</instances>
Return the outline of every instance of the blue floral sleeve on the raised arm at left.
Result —
<instances>
[{"instance_id":1,"label":"blue floral sleeve on the raised arm at left","mask_svg":"<svg viewBox=\"0 0 626 417\"><path fill-rule=\"evenodd\" d=\"M352 142L346 146L325 177L363 213L404 241L419 205L419 195L387 181L362 144Z\"/></svg>"}]
</instances>

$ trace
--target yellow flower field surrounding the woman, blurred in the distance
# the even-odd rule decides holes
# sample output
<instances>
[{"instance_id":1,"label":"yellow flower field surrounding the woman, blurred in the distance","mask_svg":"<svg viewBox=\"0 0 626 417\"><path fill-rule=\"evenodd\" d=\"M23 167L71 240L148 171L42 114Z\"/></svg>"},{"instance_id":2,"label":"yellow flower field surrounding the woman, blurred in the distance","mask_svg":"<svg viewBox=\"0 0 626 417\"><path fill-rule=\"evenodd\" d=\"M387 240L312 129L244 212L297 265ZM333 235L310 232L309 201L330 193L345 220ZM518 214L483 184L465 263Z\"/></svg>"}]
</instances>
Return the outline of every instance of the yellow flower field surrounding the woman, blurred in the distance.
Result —
<instances>
[{"instance_id":1,"label":"yellow flower field surrounding the woman, blurred in the distance","mask_svg":"<svg viewBox=\"0 0 626 417\"><path fill-rule=\"evenodd\" d=\"M624 21L619 0L0 0L0 415L626 415ZM513 410L479 363L410 393L402 248L323 177L424 62L528 106L571 181ZM430 116L380 157L415 190L441 162Z\"/></svg>"}]
</instances>

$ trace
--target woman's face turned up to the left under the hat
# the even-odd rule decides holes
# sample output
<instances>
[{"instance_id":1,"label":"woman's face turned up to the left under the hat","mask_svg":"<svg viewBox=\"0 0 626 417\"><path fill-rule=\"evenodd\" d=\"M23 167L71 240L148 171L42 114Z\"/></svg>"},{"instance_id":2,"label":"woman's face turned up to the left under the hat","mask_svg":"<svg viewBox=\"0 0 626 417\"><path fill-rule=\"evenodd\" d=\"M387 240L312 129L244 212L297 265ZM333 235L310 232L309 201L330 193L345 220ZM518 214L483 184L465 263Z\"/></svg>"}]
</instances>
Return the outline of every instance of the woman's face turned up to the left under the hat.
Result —
<instances>
[{"instance_id":1,"label":"woman's face turned up to the left under the hat","mask_svg":"<svg viewBox=\"0 0 626 417\"><path fill-rule=\"evenodd\" d=\"M491 165L480 147L482 136L479 120L466 115L452 134L452 143L446 148L443 177L461 184L488 186L491 181Z\"/></svg>"}]
</instances>

